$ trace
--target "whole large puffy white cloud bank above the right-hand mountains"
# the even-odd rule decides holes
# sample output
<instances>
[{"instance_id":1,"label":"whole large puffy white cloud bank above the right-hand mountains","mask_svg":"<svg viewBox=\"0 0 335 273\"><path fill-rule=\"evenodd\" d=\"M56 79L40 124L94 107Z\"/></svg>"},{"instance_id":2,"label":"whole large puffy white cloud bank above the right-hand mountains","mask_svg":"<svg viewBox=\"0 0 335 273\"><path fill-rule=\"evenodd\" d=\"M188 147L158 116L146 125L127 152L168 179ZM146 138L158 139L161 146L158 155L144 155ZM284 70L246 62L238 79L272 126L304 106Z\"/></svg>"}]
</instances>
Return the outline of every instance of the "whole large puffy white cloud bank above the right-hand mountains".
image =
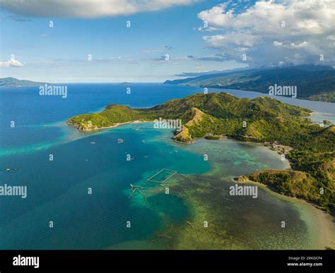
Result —
<instances>
[{"instance_id":1,"label":"whole large puffy white cloud bank above the right-hand mountains","mask_svg":"<svg viewBox=\"0 0 335 273\"><path fill-rule=\"evenodd\" d=\"M248 62L259 65L283 60L317 63L319 54L327 56L324 64L334 65L329 44L335 40L334 1L271 0L239 5L245 8L228 1L198 13L207 25L201 31L219 32L203 37L206 47L221 51L228 59L240 60L241 54L247 54Z\"/></svg>"}]
</instances>

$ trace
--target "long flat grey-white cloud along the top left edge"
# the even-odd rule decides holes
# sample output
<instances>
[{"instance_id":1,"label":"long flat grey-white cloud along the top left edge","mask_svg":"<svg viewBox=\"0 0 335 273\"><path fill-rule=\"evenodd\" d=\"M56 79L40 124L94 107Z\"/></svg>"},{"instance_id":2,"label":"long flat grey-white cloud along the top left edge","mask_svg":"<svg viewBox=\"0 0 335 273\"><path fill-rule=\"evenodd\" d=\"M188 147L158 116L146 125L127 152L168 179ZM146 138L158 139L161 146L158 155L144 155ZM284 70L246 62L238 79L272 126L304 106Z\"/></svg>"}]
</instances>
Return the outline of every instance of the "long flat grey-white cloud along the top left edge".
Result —
<instances>
[{"instance_id":1,"label":"long flat grey-white cloud along the top left edge","mask_svg":"<svg viewBox=\"0 0 335 273\"><path fill-rule=\"evenodd\" d=\"M8 11L24 16L99 18L158 11L197 0L0 0Z\"/></svg>"}]
</instances>

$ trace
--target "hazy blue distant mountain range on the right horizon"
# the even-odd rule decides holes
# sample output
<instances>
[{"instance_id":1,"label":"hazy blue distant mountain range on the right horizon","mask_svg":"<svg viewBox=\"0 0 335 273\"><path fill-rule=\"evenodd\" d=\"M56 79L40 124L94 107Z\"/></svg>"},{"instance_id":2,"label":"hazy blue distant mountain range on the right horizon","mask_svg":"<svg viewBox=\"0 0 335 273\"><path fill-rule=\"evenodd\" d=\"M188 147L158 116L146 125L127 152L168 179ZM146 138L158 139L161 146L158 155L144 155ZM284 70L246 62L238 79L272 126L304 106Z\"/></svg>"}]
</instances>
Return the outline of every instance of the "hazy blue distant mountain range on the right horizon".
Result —
<instances>
[{"instance_id":1,"label":"hazy blue distant mountain range on the right horizon","mask_svg":"<svg viewBox=\"0 0 335 273\"><path fill-rule=\"evenodd\" d=\"M287 66L254 68L200 75L181 80L166 80L165 84L191 85L269 93L269 87L296 86L300 99L335 102L335 69L330 66Z\"/></svg>"}]
</instances>

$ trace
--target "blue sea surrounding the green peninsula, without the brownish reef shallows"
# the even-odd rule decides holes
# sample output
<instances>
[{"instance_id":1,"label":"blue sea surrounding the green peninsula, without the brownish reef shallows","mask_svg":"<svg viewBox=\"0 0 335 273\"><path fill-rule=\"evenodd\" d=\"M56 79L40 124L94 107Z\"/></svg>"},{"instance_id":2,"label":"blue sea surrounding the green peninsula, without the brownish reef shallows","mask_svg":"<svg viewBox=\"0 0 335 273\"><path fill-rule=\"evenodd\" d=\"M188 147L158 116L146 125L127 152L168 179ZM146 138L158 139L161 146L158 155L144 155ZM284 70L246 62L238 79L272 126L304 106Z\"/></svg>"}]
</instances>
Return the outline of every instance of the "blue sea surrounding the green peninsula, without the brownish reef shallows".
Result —
<instances>
[{"instance_id":1,"label":"blue sea surrounding the green peninsula, without the brownish reef shallows","mask_svg":"<svg viewBox=\"0 0 335 273\"><path fill-rule=\"evenodd\" d=\"M107 104L153 107L169 99L203 92L199 87L158 83L67 86L66 99L40 96L38 87L0 90L0 186L6 183L28 187L25 199L0 196L0 249L165 248L164 243L151 238L166 228L165 216L168 224L188 219L192 213L189 205L177 195L152 195L148 200L136 195L129 199L130 183L147 185L146 179L161 169L201 175L215 165L221 169L221 176L231 177L286 167L278 154L232 140L176 144L170 140L171 131L153 129L151 123L127 124L95 133L79 132L65 123L71 116L101 111ZM127 87L131 88L130 95ZM262 95L228 92L237 97ZM333 104L280 99L316 111L315 122L334 121ZM120 138L124 143L118 144ZM204 161L206 151L213 153L215 161ZM50 154L53 161L49 161ZM130 162L126 160L127 154L133 159ZM90 195L88 188L92 189ZM293 205L266 192L260 196L254 205L259 207L259 217L269 217L271 209L273 217L290 217L296 230L300 226L301 232L305 232ZM240 203L243 207L248 201L244 202ZM261 207L266 206L262 212ZM233 209L242 211L242 207ZM53 228L49 227L50 221ZM131 228L126 227L128 221ZM236 220L230 228L238 225ZM250 230L255 232L259 229L257 223L253 228ZM266 229L271 230L271 224ZM262 245L276 248L269 238L264 238ZM251 247L257 246L255 242Z\"/></svg>"}]
</instances>

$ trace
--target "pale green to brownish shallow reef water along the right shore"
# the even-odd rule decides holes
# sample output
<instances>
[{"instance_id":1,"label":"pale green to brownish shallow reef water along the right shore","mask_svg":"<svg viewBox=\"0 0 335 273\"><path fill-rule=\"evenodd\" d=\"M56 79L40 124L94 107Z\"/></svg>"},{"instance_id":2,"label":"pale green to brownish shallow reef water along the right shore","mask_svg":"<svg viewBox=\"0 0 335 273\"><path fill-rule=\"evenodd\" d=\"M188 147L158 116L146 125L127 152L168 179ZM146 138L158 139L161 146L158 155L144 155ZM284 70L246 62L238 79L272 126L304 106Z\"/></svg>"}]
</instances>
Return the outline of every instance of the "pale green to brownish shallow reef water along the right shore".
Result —
<instances>
[{"instance_id":1,"label":"pale green to brownish shallow reef water along the right shore","mask_svg":"<svg viewBox=\"0 0 335 273\"><path fill-rule=\"evenodd\" d=\"M212 243L206 244L206 239L201 241L197 248L313 248L314 238L311 236L315 236L315 233L310 233L310 223L302 221L301 211L296 210L294 202L280 198L262 187L258 188L257 198L230 195L230 186L235 186L233 177L260 169L286 169L288 162L281 161L276 152L261 145L234 140L204 139L184 149L208 155L211 169L205 174L194 174L192 180L183 180L180 184L184 183L184 188L196 190L191 199L195 198L196 202L208 207L207 214L210 216L207 217L215 220L211 224L213 232L224 231L223 236L210 237ZM200 218L198 221L206 219ZM285 228L281 227L281 222L286 223Z\"/></svg>"}]
</instances>

